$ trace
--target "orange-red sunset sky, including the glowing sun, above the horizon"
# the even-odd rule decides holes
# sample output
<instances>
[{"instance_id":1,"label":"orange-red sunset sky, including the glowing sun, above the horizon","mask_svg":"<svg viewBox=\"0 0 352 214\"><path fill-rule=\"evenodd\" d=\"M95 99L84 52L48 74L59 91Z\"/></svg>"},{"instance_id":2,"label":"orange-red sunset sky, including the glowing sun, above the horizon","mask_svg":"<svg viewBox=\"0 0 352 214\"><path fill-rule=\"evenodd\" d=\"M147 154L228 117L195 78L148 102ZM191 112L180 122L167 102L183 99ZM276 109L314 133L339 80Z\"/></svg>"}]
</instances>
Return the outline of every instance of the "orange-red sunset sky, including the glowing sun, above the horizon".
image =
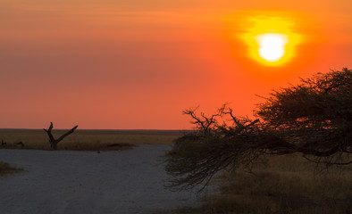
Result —
<instances>
[{"instance_id":1,"label":"orange-red sunset sky, including the glowing sun, above the horizon","mask_svg":"<svg viewBox=\"0 0 352 214\"><path fill-rule=\"evenodd\" d=\"M182 110L222 103L252 117L257 95L351 55L350 0L0 0L0 128L186 129Z\"/></svg>"}]
</instances>

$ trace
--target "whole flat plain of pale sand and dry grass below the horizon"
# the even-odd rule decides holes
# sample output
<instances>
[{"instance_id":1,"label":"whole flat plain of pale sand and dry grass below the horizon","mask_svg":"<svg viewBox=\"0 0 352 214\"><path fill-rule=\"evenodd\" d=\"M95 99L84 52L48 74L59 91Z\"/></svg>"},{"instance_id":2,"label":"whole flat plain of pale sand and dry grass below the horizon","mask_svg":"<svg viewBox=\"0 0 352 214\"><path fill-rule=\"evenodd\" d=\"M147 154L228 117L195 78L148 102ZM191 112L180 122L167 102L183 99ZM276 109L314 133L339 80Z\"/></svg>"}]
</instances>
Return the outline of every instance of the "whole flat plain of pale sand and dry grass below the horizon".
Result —
<instances>
[{"instance_id":1,"label":"whole flat plain of pale sand and dry grass below the horizon","mask_svg":"<svg viewBox=\"0 0 352 214\"><path fill-rule=\"evenodd\" d=\"M0 213L351 213L352 166L321 171L298 154L225 172L202 200L171 192L161 157L185 132L77 130L51 151L44 130L0 129L0 162L17 172L0 177Z\"/></svg>"}]
</instances>

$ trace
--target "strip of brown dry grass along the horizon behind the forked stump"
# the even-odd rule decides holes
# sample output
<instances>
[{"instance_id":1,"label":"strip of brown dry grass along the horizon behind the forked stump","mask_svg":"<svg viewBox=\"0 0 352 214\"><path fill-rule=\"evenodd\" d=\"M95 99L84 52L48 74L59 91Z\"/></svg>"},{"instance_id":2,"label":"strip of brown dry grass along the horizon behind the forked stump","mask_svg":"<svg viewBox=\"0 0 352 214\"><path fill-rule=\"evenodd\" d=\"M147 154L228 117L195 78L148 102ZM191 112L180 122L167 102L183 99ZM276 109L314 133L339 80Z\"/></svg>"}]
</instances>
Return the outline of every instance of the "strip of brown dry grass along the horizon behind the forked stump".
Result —
<instances>
[{"instance_id":1,"label":"strip of brown dry grass along the horizon behind the forked stump","mask_svg":"<svg viewBox=\"0 0 352 214\"><path fill-rule=\"evenodd\" d=\"M53 130L54 137L67 130ZM130 149L136 144L172 144L180 131L158 130L76 130L57 144L58 150L100 151ZM0 129L1 148L50 150L44 130ZM18 144L22 142L24 146Z\"/></svg>"}]
</instances>

